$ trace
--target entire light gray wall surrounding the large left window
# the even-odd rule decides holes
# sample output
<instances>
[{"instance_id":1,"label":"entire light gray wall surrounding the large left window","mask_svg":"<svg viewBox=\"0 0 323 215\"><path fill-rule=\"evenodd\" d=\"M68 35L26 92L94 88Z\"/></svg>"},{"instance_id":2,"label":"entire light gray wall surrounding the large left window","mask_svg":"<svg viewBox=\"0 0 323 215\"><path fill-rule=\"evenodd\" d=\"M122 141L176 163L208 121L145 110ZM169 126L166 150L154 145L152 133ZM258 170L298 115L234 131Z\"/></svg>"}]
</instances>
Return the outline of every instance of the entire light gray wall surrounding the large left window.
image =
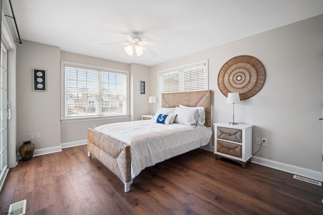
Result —
<instances>
[{"instance_id":1,"label":"entire light gray wall surrounding the large left window","mask_svg":"<svg viewBox=\"0 0 323 215\"><path fill-rule=\"evenodd\" d=\"M61 123L60 120L60 60L74 61L130 71L130 113L124 119L96 120ZM32 90L32 68L47 70L47 91ZM146 81L146 94L139 95L139 80ZM33 139L36 150L59 147L73 141L85 140L87 128L106 123L141 119L148 114L150 67L100 59L61 51L59 47L23 41L17 47L17 148L29 140L29 133L40 132L40 139ZM143 104L147 105L143 105Z\"/></svg>"}]
</instances>

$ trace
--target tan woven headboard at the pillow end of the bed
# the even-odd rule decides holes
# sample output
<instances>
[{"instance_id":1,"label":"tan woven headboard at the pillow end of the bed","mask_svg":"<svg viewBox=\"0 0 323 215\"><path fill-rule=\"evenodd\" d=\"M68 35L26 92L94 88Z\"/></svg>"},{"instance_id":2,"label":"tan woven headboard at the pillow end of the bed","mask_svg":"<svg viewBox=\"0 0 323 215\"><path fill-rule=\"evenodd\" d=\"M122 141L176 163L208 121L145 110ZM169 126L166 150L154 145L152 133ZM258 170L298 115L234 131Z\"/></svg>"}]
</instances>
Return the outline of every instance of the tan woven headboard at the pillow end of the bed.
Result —
<instances>
[{"instance_id":1,"label":"tan woven headboard at the pillow end of the bed","mask_svg":"<svg viewBox=\"0 0 323 215\"><path fill-rule=\"evenodd\" d=\"M205 126L211 127L211 104L212 91L192 91L181 93L163 93L161 94L161 107L178 107L185 105L188 107L205 108Z\"/></svg>"}]
</instances>

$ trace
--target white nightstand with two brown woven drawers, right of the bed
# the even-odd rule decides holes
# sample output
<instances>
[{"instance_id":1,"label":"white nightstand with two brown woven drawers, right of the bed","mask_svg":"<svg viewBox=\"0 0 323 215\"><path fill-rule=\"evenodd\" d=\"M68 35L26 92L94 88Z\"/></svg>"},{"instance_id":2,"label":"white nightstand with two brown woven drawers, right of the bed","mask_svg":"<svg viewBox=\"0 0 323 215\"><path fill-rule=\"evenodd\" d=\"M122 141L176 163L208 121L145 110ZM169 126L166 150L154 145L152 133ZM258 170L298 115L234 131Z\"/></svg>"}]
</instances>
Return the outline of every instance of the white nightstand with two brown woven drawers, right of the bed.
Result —
<instances>
[{"instance_id":1,"label":"white nightstand with two brown woven drawers, right of the bed","mask_svg":"<svg viewBox=\"0 0 323 215\"><path fill-rule=\"evenodd\" d=\"M214 154L242 164L252 157L252 126L239 123L231 125L229 122L214 123Z\"/></svg>"}]
</instances>

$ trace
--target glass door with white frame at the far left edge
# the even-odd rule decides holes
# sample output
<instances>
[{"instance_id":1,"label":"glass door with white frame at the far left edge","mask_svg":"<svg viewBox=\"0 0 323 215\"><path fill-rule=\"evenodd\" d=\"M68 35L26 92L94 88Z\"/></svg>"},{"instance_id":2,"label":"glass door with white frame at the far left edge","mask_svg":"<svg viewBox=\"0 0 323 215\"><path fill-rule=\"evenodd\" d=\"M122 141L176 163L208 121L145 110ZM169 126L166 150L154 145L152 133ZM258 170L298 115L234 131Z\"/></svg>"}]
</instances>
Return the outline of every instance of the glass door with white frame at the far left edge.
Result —
<instances>
[{"instance_id":1,"label":"glass door with white frame at the far left edge","mask_svg":"<svg viewBox=\"0 0 323 215\"><path fill-rule=\"evenodd\" d=\"M0 52L0 189L8 173L8 52L1 42Z\"/></svg>"}]
</instances>

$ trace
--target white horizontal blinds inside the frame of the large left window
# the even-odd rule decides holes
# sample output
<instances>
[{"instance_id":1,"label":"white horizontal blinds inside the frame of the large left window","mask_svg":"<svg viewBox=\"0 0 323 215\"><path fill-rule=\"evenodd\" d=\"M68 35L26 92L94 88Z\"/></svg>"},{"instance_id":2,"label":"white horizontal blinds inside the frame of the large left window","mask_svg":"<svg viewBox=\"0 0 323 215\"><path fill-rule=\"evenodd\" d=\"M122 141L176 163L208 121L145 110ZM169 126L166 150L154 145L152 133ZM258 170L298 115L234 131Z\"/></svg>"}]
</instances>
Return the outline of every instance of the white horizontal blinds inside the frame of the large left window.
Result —
<instances>
[{"instance_id":1,"label":"white horizontal blinds inside the frame of the large left window","mask_svg":"<svg viewBox=\"0 0 323 215\"><path fill-rule=\"evenodd\" d=\"M127 76L78 67L65 67L65 117L127 113Z\"/></svg>"}]
</instances>

